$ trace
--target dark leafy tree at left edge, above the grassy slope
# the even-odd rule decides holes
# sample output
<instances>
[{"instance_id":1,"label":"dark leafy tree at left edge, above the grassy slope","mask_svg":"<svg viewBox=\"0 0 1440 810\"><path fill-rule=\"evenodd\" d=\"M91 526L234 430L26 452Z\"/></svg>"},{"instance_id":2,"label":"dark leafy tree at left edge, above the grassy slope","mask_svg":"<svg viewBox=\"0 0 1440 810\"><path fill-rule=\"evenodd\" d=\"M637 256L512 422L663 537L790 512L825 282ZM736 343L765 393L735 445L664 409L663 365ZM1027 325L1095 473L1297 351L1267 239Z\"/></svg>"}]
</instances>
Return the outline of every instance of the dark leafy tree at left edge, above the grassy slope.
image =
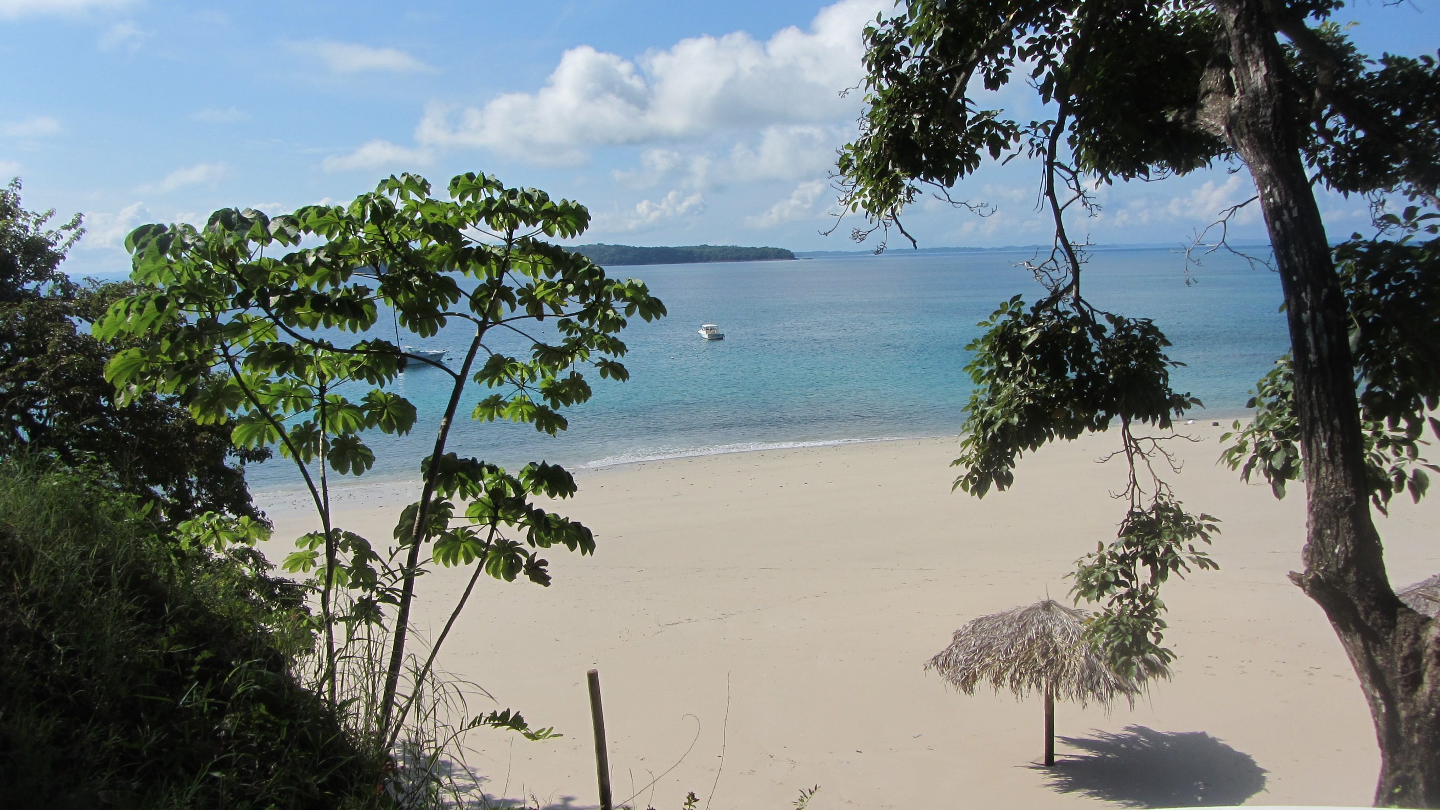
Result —
<instances>
[{"instance_id":1,"label":"dark leafy tree at left edge, above the grassy slope","mask_svg":"<svg viewBox=\"0 0 1440 810\"><path fill-rule=\"evenodd\" d=\"M19 180L0 190L0 453L98 463L170 522L203 512L259 519L245 463L266 453L232 447L226 431L197 424L173 396L115 399L104 373L115 346L88 324L127 287L60 271L84 229L79 215L49 228L53 216L23 208Z\"/></svg>"}]
</instances>

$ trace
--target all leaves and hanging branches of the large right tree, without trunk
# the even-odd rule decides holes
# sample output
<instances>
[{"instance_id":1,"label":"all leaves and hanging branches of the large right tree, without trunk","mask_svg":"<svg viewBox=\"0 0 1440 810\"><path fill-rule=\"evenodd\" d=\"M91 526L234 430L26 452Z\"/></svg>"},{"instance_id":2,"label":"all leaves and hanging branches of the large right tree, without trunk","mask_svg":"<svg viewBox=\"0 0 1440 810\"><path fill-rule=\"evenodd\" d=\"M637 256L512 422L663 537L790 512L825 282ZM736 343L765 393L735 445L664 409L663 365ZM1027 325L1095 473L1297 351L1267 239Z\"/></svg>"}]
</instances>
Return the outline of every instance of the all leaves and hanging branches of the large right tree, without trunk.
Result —
<instances>
[{"instance_id":1,"label":"all leaves and hanging branches of the large right tree, without trunk","mask_svg":"<svg viewBox=\"0 0 1440 810\"><path fill-rule=\"evenodd\" d=\"M1126 519L1110 545L1080 561L1074 594L1106 600L1093 640L1116 664L1165 659L1158 587L1188 566L1214 565L1194 542L1215 520L1187 513L1155 474L1169 454L1130 431L1166 428L1198 405L1171 389L1165 336L1146 319L1092 307L1081 294L1084 245L1066 213L1093 212L1096 183L1184 174L1237 159L1228 115L1236 94L1230 36L1214 0L907 0L865 29L860 135L838 169L842 202L868 229L910 236L901 216L926 189L950 192L985 161L1032 159L1056 226L1048 257L1027 262L1045 287L1032 306L1002 303L969 350L975 380L956 486L984 496L1012 483L1018 458L1054 440L1120 427L1129 481ZM1382 210L1385 195L1436 205L1440 182L1440 66L1431 56L1371 61L1329 22L1339 0L1261 4L1263 23L1286 37L1283 61L1297 104L1282 111L1319 182L1362 193ZM1021 121L994 91L1024 81L1045 105ZM973 202L958 203L984 209ZM1217 213L1218 215L1218 213ZM1223 215L1220 215L1223 216ZM1345 277L1351 337L1375 503L1405 489L1424 493L1418 455L1427 411L1440 386L1440 323L1434 310L1436 242L1430 213L1410 208L1380 218L1382 236L1358 235L1336 251ZM1401 238L1394 238L1400 231ZM913 241L913 239L912 239ZM1283 491L1299 474L1295 408L1286 365L1261 382L1261 412L1225 461L1259 470ZM1440 422L1431 422L1440 431ZM1437 434L1440 435L1440 434Z\"/></svg>"}]
</instances>

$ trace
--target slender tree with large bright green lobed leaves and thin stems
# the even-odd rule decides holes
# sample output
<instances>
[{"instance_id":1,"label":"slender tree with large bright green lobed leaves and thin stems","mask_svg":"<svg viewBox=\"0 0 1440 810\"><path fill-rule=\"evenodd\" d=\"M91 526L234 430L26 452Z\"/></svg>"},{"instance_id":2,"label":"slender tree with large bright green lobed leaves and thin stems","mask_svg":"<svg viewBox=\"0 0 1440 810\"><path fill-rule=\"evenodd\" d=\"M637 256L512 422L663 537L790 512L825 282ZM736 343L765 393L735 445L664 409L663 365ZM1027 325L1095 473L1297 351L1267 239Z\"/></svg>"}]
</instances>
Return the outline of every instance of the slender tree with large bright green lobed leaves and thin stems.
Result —
<instances>
[{"instance_id":1,"label":"slender tree with large bright green lobed leaves and thin stems","mask_svg":"<svg viewBox=\"0 0 1440 810\"><path fill-rule=\"evenodd\" d=\"M423 177L402 174L347 206L275 218L223 209L203 228L144 225L125 242L140 288L111 306L98 331L137 344L111 360L111 382L122 399L179 395L196 421L226 425L236 445L275 447L295 464L321 529L300 539L285 566L318 577L320 686L331 705L360 706L366 716L357 719L384 751L481 574L547 585L544 549L595 549L588 528L534 503L573 494L567 471L543 461L507 471L448 450L459 405L477 388L488 393L472 418L556 435L567 427L560 411L590 396L583 369L628 378L616 334L628 317L665 310L642 282L608 278L546 241L577 236L588 223L579 203L485 174L456 176L448 199L431 196ZM467 347L446 366L380 337L400 327L422 337L459 331ZM392 389L402 360L433 366L449 396L432 453L419 461L419 499L400 513L396 545L383 553L334 523L330 476L360 476L374 464L366 431L415 427L415 406ZM196 530L217 543L248 539L223 522ZM468 565L472 574L403 695L416 579L431 564ZM357 695L340 676L356 656L338 654L337 644L366 630L387 636L370 660L382 673L376 693ZM475 722L547 734L508 711Z\"/></svg>"}]
</instances>

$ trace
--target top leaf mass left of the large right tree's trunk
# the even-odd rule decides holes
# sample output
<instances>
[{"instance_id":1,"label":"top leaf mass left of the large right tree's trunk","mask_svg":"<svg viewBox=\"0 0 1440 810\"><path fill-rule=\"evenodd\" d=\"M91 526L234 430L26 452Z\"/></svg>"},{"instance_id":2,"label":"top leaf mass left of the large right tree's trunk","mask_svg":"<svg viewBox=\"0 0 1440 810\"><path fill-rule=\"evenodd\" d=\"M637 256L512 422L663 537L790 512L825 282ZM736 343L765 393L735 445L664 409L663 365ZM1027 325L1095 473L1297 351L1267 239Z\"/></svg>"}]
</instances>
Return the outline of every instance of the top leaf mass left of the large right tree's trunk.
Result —
<instances>
[{"instance_id":1,"label":"top leaf mass left of the large right tree's trunk","mask_svg":"<svg viewBox=\"0 0 1440 810\"><path fill-rule=\"evenodd\" d=\"M850 210L899 222L924 186L949 189L1034 138L1064 137L1074 166L1102 180L1184 173L1225 151L1187 125L1212 22L1158 3L914 0L865 29L860 137L838 167ZM1068 55L1084 52L1084 63ZM1022 71L1057 120L1020 123L985 108ZM1044 147L1041 146L1041 151Z\"/></svg>"}]
</instances>

